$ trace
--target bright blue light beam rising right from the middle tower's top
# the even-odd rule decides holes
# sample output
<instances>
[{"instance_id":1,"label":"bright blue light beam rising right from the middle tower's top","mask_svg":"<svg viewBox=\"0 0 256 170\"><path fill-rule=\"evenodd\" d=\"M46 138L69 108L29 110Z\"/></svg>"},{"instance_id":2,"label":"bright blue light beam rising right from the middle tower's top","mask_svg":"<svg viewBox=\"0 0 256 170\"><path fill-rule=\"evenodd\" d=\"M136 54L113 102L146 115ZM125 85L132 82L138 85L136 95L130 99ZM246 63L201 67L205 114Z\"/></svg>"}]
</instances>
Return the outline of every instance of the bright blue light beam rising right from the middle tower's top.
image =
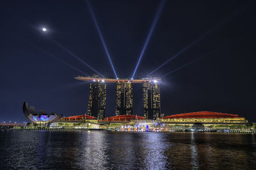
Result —
<instances>
[{"instance_id":1,"label":"bright blue light beam rising right from the middle tower's top","mask_svg":"<svg viewBox=\"0 0 256 170\"><path fill-rule=\"evenodd\" d=\"M147 39L146 39L145 44L144 44L144 46L143 46L143 48L142 48L142 51L141 51L139 60L138 60L138 62L137 62L137 64L136 64L136 67L135 67L135 69L134 69L134 72L133 72L133 74L132 74L132 78L134 77L134 74L136 73L136 71L137 71L137 69L138 69L138 66L139 66L139 64L140 64L140 60L141 60L141 58L142 58L142 56L143 56L143 54L144 54L144 52L145 52L145 49L147 48L148 41L149 41L149 39L150 39L150 37L151 37L151 35L152 35L152 32L154 31L154 28L156 27L156 23L157 23L157 20L158 20L158 18L159 18L159 15L160 15L161 11L163 10L163 6L164 6L164 0L161 2L160 6L159 6L159 8L158 8L158 10L157 10L156 17L154 18L154 21L153 21L153 23L152 23L152 25L151 25L150 31L148 32Z\"/></svg>"}]
</instances>

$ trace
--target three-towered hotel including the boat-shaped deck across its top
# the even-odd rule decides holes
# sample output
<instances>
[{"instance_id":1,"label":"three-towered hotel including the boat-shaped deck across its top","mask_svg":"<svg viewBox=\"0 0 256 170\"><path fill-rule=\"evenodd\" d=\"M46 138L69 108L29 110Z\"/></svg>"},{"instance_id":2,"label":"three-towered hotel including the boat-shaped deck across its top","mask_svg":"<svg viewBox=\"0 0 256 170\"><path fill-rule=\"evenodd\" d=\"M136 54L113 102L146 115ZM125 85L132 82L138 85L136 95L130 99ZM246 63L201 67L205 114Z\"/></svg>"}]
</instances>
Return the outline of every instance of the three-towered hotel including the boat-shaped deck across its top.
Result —
<instances>
[{"instance_id":1,"label":"three-towered hotel including the boat-shaped deck across its top","mask_svg":"<svg viewBox=\"0 0 256 170\"><path fill-rule=\"evenodd\" d=\"M116 115L132 115L132 83L141 83L143 89L143 108L146 119L158 119L160 116L161 78L102 78L99 75L77 76L76 80L90 81L90 94L87 114L98 120L105 118L106 84L116 83Z\"/></svg>"}]
</instances>

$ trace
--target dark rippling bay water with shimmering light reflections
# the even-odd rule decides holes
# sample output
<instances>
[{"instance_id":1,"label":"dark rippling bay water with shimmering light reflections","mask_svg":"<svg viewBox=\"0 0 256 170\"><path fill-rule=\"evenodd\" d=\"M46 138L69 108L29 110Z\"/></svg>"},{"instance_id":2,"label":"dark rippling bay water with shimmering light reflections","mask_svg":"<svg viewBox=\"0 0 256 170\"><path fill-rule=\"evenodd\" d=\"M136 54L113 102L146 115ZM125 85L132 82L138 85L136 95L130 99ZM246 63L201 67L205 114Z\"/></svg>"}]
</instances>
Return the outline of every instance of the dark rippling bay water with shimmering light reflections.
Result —
<instances>
[{"instance_id":1,"label":"dark rippling bay water with shimmering light reflections","mask_svg":"<svg viewBox=\"0 0 256 170\"><path fill-rule=\"evenodd\" d=\"M256 169L253 134L1 131L0 169Z\"/></svg>"}]
</instances>

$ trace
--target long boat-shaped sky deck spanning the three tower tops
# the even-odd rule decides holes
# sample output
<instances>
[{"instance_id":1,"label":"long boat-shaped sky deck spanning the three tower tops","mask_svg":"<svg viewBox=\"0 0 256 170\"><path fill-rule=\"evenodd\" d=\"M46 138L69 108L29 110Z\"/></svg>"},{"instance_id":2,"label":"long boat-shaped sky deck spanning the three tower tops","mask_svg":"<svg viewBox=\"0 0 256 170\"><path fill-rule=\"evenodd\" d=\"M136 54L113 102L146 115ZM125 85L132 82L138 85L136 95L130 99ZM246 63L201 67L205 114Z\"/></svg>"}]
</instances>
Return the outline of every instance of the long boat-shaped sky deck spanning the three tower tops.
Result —
<instances>
[{"instance_id":1,"label":"long boat-shaped sky deck spanning the three tower tops","mask_svg":"<svg viewBox=\"0 0 256 170\"><path fill-rule=\"evenodd\" d=\"M142 78L142 79L131 79L131 78L99 78L93 76L77 76L75 77L76 80L82 81L101 81L105 83L117 83L117 82L130 82L130 83L143 83L143 82L154 82L157 83L161 81L161 78Z\"/></svg>"}]
</instances>

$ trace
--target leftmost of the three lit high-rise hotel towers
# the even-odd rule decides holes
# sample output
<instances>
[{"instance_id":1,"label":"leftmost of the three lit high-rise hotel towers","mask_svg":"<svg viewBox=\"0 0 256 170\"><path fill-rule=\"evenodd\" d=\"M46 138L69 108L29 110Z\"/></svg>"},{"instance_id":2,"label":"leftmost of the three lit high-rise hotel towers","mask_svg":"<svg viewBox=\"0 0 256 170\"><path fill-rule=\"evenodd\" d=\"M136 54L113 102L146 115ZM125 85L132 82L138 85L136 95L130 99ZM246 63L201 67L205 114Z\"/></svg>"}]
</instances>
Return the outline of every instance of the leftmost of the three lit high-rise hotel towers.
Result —
<instances>
[{"instance_id":1,"label":"leftmost of the three lit high-rise hotel towers","mask_svg":"<svg viewBox=\"0 0 256 170\"><path fill-rule=\"evenodd\" d=\"M106 83L104 81L91 81L87 114L102 120L106 108Z\"/></svg>"}]
</instances>

